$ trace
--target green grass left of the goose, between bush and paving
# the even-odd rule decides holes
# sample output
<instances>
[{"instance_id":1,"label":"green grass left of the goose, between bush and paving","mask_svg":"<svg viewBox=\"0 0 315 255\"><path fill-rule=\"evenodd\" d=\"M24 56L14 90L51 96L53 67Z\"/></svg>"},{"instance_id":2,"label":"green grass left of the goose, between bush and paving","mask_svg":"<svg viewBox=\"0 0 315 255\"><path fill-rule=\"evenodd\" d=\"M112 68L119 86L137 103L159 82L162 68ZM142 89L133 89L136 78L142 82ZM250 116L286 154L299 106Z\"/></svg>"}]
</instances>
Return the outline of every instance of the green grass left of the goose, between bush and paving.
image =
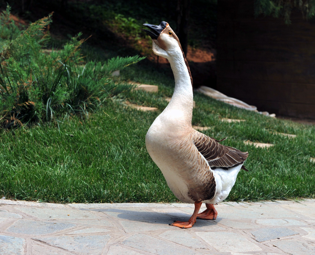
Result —
<instances>
[{"instance_id":1,"label":"green grass left of the goose, between bush and paving","mask_svg":"<svg viewBox=\"0 0 315 255\"><path fill-rule=\"evenodd\" d=\"M157 182L163 176L143 147L143 127L154 116L146 117L109 101L83 125L80 119L68 119L59 129L44 125L3 133L3 195L49 202L174 199Z\"/></svg>"}]
</instances>

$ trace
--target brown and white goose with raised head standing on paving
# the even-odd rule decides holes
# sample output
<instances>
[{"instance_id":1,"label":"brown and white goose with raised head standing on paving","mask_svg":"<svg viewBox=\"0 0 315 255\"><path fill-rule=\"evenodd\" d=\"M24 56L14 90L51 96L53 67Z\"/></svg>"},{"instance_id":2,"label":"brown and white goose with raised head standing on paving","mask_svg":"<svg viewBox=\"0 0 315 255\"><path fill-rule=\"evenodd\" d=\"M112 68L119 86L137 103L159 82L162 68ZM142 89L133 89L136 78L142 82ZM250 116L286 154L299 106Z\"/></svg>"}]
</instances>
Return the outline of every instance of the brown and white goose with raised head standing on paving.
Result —
<instances>
[{"instance_id":1,"label":"brown and white goose with raised head standing on paving","mask_svg":"<svg viewBox=\"0 0 315 255\"><path fill-rule=\"evenodd\" d=\"M224 146L221 141L192 128L192 76L180 42L169 24L143 24L152 38L152 50L167 58L175 79L173 96L146 134L146 149L180 201L194 203L191 218L169 225L191 228L196 219L216 219L214 204L230 193L248 152ZM198 213L202 203L206 210Z\"/></svg>"}]
</instances>

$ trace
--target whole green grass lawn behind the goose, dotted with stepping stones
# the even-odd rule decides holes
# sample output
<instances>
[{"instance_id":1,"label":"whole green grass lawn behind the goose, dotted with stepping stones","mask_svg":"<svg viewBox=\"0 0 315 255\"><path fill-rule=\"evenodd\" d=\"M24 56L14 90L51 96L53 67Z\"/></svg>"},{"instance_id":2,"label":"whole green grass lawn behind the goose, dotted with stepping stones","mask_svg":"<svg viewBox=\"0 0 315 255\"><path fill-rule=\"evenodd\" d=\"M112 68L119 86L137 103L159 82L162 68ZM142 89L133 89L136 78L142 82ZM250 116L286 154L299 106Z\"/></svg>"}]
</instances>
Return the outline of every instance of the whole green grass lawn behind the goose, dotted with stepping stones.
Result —
<instances>
[{"instance_id":1,"label":"whole green grass lawn behind the goose, dotted with stepping stones","mask_svg":"<svg viewBox=\"0 0 315 255\"><path fill-rule=\"evenodd\" d=\"M0 134L0 192L10 199L45 202L175 202L145 147L145 135L166 107L174 78L170 69L131 66L122 79L159 85L159 92L125 92L89 118L67 118ZM140 78L141 77L141 78ZM154 83L153 83L154 82ZM157 107L142 112L123 101ZM227 200L315 197L315 127L265 117L195 93L193 125L206 135L249 152ZM245 119L226 123L222 118ZM297 135L289 139L273 131ZM268 149L243 141L272 143Z\"/></svg>"}]
</instances>

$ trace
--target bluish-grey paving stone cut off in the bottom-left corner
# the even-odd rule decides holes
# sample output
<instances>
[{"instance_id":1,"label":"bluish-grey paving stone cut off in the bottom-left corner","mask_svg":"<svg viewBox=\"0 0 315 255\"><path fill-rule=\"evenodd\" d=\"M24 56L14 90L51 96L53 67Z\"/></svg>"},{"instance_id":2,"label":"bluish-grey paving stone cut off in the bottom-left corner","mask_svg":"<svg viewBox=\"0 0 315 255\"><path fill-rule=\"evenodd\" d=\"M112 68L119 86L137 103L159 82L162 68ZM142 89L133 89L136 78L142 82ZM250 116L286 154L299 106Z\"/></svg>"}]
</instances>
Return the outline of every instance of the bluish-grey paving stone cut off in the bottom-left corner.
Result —
<instances>
[{"instance_id":1,"label":"bluish-grey paving stone cut off in the bottom-left corner","mask_svg":"<svg viewBox=\"0 0 315 255\"><path fill-rule=\"evenodd\" d=\"M23 254L25 239L0 235L0 254Z\"/></svg>"}]
</instances>

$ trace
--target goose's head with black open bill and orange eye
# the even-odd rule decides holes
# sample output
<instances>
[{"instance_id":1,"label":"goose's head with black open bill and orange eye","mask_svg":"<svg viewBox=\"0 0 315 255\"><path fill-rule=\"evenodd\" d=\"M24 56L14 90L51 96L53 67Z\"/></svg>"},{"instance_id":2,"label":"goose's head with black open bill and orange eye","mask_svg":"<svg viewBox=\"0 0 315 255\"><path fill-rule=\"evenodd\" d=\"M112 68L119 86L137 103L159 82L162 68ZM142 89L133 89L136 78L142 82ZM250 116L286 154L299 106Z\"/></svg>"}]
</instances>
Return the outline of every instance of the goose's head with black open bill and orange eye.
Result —
<instances>
[{"instance_id":1,"label":"goose's head with black open bill and orange eye","mask_svg":"<svg viewBox=\"0 0 315 255\"><path fill-rule=\"evenodd\" d=\"M154 54L163 58L171 58L178 53L182 53L182 48L178 37L169 26L169 23L162 21L160 25L143 24L145 31L152 38L152 50Z\"/></svg>"}]
</instances>

